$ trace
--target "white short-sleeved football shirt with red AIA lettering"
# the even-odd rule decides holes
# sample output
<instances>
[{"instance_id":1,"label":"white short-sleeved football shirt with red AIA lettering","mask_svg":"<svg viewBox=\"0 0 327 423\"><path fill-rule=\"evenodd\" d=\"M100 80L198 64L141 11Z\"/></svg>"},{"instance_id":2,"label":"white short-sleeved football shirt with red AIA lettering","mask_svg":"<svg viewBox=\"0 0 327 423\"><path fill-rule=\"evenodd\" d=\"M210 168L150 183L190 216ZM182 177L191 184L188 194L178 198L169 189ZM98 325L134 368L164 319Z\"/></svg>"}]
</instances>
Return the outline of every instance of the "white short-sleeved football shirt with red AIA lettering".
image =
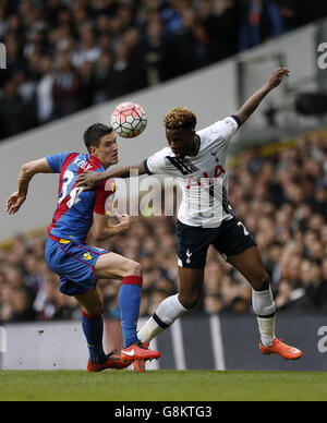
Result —
<instances>
[{"instance_id":1,"label":"white short-sleeved football shirt with red AIA lettering","mask_svg":"<svg viewBox=\"0 0 327 423\"><path fill-rule=\"evenodd\" d=\"M173 176L183 196L178 219L196 227L216 228L231 219L226 171L227 147L239 129L237 118L228 117L196 134L201 145L196 156L178 158L165 147L144 161L148 174Z\"/></svg>"}]
</instances>

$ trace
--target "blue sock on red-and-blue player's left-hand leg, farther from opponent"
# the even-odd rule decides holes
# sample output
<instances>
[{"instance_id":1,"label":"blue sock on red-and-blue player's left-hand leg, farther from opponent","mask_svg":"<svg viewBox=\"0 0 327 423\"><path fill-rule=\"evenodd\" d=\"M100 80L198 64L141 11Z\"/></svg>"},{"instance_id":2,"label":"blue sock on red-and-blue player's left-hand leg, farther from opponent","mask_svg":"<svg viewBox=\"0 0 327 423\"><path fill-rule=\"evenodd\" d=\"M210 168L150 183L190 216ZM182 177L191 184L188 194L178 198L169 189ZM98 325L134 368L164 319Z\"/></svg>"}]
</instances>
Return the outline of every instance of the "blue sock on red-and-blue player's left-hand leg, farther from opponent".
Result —
<instances>
[{"instance_id":1,"label":"blue sock on red-and-blue player's left-hand leg, farther from opponent","mask_svg":"<svg viewBox=\"0 0 327 423\"><path fill-rule=\"evenodd\" d=\"M82 327L87 340L89 360L95 364L104 364L107 355L104 351L104 319L101 315L89 316L82 311Z\"/></svg>"}]
</instances>

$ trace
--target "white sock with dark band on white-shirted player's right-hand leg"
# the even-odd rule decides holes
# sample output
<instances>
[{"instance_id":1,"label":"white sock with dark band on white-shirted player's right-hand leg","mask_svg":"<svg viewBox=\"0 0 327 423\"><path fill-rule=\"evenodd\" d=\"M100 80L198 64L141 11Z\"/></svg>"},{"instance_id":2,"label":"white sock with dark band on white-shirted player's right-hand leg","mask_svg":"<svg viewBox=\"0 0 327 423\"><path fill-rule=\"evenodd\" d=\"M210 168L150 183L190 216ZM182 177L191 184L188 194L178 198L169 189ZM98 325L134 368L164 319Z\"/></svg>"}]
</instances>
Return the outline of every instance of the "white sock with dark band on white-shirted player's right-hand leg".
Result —
<instances>
[{"instance_id":1,"label":"white sock with dark band on white-shirted player's right-hand leg","mask_svg":"<svg viewBox=\"0 0 327 423\"><path fill-rule=\"evenodd\" d=\"M266 291L252 290L252 305L258 323L261 341L264 347L269 347L276 338L276 305L271 288Z\"/></svg>"}]
</instances>

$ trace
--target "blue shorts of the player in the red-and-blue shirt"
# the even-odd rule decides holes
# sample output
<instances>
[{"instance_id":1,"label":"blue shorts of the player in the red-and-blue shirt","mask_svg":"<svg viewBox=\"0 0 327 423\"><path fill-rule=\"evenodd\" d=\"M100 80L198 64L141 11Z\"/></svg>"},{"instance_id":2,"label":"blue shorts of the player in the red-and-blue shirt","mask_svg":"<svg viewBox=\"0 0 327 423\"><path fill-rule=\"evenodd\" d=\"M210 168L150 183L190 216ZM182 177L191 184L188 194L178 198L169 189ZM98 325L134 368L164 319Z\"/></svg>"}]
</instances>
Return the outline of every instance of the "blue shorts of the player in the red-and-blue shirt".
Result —
<instances>
[{"instance_id":1,"label":"blue shorts of the player in the red-and-blue shirt","mask_svg":"<svg viewBox=\"0 0 327 423\"><path fill-rule=\"evenodd\" d=\"M100 255L108 253L108 250L49 238L45 256L50 269L60 277L60 292L77 295L96 288L94 266Z\"/></svg>"}]
</instances>

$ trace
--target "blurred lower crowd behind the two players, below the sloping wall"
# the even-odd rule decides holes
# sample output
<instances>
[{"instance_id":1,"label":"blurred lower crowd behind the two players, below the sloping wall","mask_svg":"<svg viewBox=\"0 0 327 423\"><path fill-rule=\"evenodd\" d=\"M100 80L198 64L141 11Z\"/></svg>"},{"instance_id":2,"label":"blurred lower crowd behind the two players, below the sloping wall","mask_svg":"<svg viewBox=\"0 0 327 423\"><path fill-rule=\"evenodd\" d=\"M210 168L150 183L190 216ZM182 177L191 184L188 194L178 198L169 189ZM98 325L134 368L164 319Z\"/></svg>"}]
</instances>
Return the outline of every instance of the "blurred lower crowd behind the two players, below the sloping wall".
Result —
<instances>
[{"instance_id":1,"label":"blurred lower crowd behind the two players, below the sloping wall","mask_svg":"<svg viewBox=\"0 0 327 423\"><path fill-rule=\"evenodd\" d=\"M283 145L283 144L280 144ZM229 200L251 231L272 282L279 312L327 313L327 131L298 136L265 156L255 148L230 169ZM141 315L178 290L173 217L135 217L129 232L101 243L142 263ZM17 237L0 250L0 322L80 316L49 270L46 237ZM107 317L119 318L118 281L98 281ZM201 314L252 313L251 288L209 249Z\"/></svg>"}]
</instances>

